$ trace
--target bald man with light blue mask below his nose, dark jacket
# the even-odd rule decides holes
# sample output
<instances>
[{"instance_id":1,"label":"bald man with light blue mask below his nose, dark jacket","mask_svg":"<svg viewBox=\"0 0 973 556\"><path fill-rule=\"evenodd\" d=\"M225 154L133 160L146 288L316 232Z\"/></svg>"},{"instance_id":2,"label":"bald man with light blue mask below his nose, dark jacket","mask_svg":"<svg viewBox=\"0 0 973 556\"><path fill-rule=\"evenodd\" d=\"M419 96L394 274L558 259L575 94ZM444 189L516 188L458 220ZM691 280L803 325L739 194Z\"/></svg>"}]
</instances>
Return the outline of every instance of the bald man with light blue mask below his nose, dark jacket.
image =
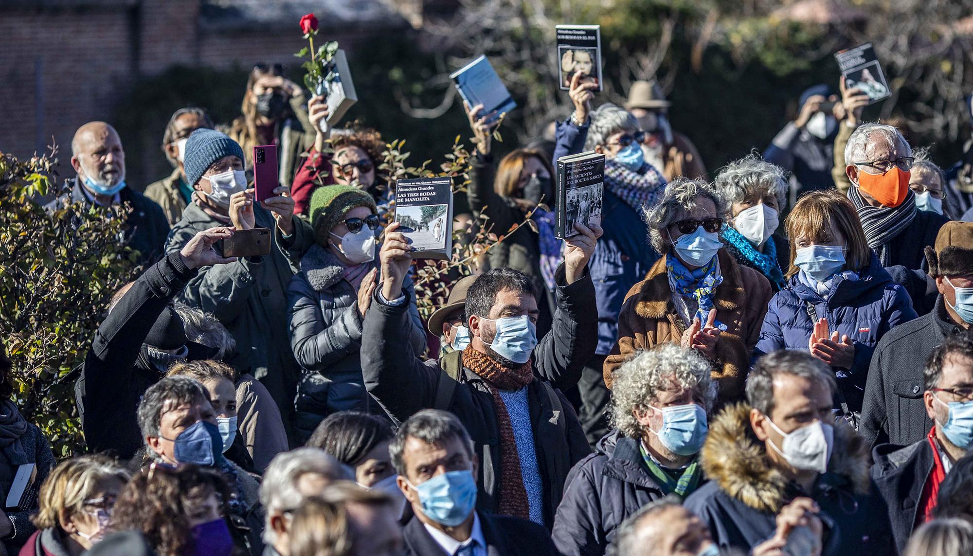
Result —
<instances>
[{"instance_id":1,"label":"bald man with light blue mask below his nose, dark jacket","mask_svg":"<svg viewBox=\"0 0 973 556\"><path fill-rule=\"evenodd\" d=\"M128 204L131 210L122 211L126 229L119 240L138 252L138 263L159 261L169 223L155 201L127 187L125 149L115 128L106 122L79 127L71 140L71 166L77 175L64 180L63 194L45 209L53 212L66 202L90 207Z\"/></svg>"}]
</instances>

